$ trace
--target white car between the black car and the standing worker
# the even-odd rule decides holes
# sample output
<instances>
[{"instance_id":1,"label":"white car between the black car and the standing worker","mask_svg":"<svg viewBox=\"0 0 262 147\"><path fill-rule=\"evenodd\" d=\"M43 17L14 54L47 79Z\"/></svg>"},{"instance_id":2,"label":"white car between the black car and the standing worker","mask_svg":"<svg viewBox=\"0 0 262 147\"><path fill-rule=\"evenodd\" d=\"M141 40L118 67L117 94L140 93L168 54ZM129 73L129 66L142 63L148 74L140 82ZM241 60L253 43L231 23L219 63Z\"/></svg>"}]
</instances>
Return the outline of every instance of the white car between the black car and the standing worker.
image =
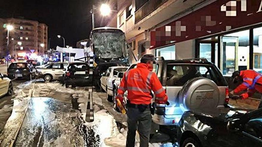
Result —
<instances>
[{"instance_id":1,"label":"white car between the black car and the standing worker","mask_svg":"<svg viewBox=\"0 0 262 147\"><path fill-rule=\"evenodd\" d=\"M107 93L107 100L112 101L113 97L113 81L118 79L118 73L124 73L128 67L115 66L109 67L105 74L100 78L101 88Z\"/></svg>"}]
</instances>

